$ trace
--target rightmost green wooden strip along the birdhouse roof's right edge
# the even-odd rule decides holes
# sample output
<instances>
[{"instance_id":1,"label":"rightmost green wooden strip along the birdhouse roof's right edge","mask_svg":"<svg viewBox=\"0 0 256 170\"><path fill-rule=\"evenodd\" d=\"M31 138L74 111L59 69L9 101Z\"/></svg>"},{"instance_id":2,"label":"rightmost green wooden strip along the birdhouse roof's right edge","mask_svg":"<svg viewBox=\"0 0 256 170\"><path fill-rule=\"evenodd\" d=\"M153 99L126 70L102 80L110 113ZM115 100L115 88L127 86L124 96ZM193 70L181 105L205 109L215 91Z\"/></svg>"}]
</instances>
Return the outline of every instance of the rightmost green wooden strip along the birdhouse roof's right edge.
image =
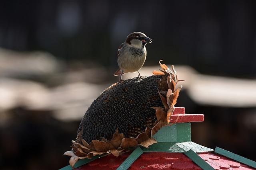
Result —
<instances>
[{"instance_id":1,"label":"rightmost green wooden strip along the birdhouse roof's right edge","mask_svg":"<svg viewBox=\"0 0 256 170\"><path fill-rule=\"evenodd\" d=\"M246 164L248 166L252 166L253 168L256 168L256 162L247 158L244 158L243 156L240 156L238 154L234 154L232 152L229 152L228 150L221 149L219 147L216 147L214 152L221 154L223 156L226 156L230 159L236 160L238 162L241 162L243 164Z\"/></svg>"}]
</instances>

